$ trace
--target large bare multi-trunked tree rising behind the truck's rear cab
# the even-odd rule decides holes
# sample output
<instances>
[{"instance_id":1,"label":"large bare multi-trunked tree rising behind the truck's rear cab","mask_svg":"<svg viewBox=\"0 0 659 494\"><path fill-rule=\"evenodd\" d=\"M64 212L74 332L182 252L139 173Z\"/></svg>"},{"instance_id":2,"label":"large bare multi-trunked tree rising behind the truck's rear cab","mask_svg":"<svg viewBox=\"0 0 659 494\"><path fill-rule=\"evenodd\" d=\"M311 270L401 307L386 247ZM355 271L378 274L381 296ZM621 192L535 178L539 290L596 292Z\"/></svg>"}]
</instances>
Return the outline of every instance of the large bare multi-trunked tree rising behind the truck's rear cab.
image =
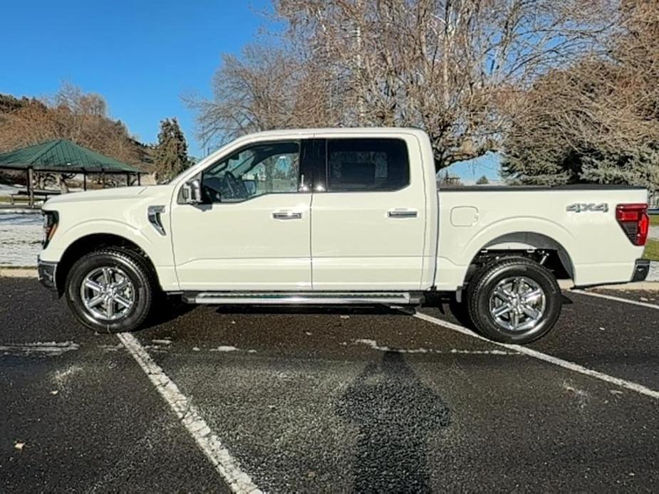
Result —
<instances>
[{"instance_id":1,"label":"large bare multi-trunked tree rising behind the truck's rear cab","mask_svg":"<svg viewBox=\"0 0 659 494\"><path fill-rule=\"evenodd\" d=\"M437 167L499 149L517 95L596 51L613 1L279 0L304 38L351 80L348 125L425 129ZM323 62L324 63L324 62ZM345 84L343 84L345 86ZM365 109L365 110L360 110Z\"/></svg>"}]
</instances>

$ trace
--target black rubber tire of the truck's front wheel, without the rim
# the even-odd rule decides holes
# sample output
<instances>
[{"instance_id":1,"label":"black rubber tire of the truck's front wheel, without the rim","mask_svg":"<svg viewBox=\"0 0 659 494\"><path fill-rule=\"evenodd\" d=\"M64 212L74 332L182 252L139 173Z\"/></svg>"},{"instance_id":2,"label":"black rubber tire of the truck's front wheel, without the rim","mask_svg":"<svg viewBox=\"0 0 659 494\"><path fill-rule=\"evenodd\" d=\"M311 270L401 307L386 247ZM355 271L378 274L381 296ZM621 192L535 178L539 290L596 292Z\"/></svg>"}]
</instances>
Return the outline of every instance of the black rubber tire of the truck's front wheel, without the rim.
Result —
<instances>
[{"instance_id":1,"label":"black rubber tire of the truck's front wheel, without the rim","mask_svg":"<svg viewBox=\"0 0 659 494\"><path fill-rule=\"evenodd\" d=\"M81 288L85 277L99 268L109 267L125 273L132 283L130 309L117 320L95 317L83 303ZM157 283L145 258L125 248L103 248L78 259L66 276L65 296L69 308L85 327L95 332L133 331L142 325L151 310L157 293Z\"/></svg>"}]
</instances>

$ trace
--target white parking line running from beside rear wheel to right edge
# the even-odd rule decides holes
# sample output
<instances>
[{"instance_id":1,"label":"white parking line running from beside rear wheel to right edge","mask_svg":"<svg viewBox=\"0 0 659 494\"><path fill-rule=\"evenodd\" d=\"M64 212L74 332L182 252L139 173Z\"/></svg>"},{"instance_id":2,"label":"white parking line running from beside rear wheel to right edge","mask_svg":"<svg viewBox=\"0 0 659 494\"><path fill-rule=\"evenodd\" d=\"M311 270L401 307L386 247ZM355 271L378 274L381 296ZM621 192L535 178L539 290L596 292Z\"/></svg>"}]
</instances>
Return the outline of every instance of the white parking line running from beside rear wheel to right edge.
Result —
<instances>
[{"instance_id":1,"label":"white parking line running from beside rear wheel to right edge","mask_svg":"<svg viewBox=\"0 0 659 494\"><path fill-rule=\"evenodd\" d=\"M549 362L550 364L558 365L559 367L564 367L564 369L569 369L571 371L578 372L580 374L584 374L589 377L594 377L595 379L600 379L601 381L604 382L616 384L616 386L619 387L631 389L631 391L636 391L637 393L644 394L645 396L650 396L651 398L659 399L659 391L655 391L654 389L645 387L642 384L637 384L635 382L627 381L626 379L620 379L619 377L609 376L608 374L604 374L603 372L599 372L593 369L588 369L587 367L583 367L583 365L575 364L574 362L569 362L564 359L559 359L558 357L554 357L546 353L538 352L537 350L531 350L531 348L529 347L522 347L522 345L509 345L507 343L499 343L499 342L494 342L492 340L487 340L487 338L484 338L481 335L477 335L472 330L469 330L464 326L460 326L457 324L453 324L452 322L437 319L437 317L432 317L431 315L423 314L422 312L415 312L413 315L414 317L417 317L417 319L421 319L427 322L432 322L432 324L436 324L442 327L447 327L450 330L461 332L463 335L468 335L474 338L478 338L479 340L490 342L493 345L499 345L499 347L504 347L509 350L514 350L515 352L523 353L525 355L528 355L529 357L534 357L534 359L543 360L544 362Z\"/></svg>"}]
</instances>

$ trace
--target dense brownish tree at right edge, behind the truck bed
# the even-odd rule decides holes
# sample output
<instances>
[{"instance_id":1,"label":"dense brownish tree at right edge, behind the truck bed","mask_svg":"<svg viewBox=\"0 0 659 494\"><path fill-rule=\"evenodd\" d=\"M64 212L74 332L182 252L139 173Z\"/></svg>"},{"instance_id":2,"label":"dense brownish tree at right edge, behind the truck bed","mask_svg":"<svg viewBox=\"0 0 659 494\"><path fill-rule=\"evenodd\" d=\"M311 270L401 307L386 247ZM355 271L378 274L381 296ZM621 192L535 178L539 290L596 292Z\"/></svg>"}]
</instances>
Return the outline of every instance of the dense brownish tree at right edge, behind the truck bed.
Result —
<instances>
[{"instance_id":1,"label":"dense brownish tree at right edge, behind the truck bed","mask_svg":"<svg viewBox=\"0 0 659 494\"><path fill-rule=\"evenodd\" d=\"M623 1L606 56L551 71L520 97L509 179L659 189L659 4Z\"/></svg>"}]
</instances>

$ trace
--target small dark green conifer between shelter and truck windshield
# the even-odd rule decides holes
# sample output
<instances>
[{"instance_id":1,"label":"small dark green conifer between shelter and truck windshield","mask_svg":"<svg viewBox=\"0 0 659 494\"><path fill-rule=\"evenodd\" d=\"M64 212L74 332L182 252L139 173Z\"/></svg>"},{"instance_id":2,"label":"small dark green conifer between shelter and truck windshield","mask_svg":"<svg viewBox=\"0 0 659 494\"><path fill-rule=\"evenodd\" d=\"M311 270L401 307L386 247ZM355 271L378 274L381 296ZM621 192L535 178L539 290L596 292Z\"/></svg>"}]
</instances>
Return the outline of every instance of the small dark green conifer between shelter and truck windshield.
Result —
<instances>
[{"instance_id":1,"label":"small dark green conifer between shelter and truck windshield","mask_svg":"<svg viewBox=\"0 0 659 494\"><path fill-rule=\"evenodd\" d=\"M160 122L158 144L155 149L155 177L157 182L165 182L190 167L187 155L187 142L176 118L165 118Z\"/></svg>"}]
</instances>

